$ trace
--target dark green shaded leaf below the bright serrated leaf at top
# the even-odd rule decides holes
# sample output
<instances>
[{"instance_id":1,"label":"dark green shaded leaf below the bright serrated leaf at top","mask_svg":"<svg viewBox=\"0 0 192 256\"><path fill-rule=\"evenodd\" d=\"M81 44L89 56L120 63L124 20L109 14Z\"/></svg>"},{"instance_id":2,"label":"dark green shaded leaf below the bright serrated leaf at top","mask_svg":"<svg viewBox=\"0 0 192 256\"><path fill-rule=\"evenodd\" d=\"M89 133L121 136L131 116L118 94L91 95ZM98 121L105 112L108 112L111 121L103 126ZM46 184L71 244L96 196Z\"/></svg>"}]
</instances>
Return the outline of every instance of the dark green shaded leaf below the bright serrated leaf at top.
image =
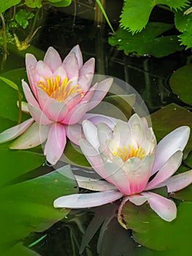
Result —
<instances>
[{"instance_id":1,"label":"dark green shaded leaf below the bright serrated leaf at top","mask_svg":"<svg viewBox=\"0 0 192 256\"><path fill-rule=\"evenodd\" d=\"M176 36L161 36L172 27L167 23L151 22L142 32L134 35L119 29L110 37L109 42L110 45L118 46L119 50L124 50L127 55L137 53L139 56L152 55L159 58L183 49Z\"/></svg>"}]
</instances>

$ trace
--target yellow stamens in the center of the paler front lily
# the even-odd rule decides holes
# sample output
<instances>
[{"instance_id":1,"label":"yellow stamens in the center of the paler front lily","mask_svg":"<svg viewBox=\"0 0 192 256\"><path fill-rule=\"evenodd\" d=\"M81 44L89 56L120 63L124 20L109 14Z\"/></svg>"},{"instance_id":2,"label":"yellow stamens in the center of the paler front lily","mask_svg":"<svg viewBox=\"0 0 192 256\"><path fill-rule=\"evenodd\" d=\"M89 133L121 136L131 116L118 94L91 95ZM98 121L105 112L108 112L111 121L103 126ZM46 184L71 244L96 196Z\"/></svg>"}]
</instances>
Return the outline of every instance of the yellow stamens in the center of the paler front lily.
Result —
<instances>
[{"instance_id":1,"label":"yellow stamens in the center of the paler front lily","mask_svg":"<svg viewBox=\"0 0 192 256\"><path fill-rule=\"evenodd\" d=\"M123 148L118 147L117 151L112 152L112 154L115 157L120 157L123 162L126 162L128 158L131 157L138 157L139 159L143 159L146 156L145 149L143 149L141 146L137 149L134 149L130 145L128 145L128 148L126 146L123 146Z\"/></svg>"}]
</instances>

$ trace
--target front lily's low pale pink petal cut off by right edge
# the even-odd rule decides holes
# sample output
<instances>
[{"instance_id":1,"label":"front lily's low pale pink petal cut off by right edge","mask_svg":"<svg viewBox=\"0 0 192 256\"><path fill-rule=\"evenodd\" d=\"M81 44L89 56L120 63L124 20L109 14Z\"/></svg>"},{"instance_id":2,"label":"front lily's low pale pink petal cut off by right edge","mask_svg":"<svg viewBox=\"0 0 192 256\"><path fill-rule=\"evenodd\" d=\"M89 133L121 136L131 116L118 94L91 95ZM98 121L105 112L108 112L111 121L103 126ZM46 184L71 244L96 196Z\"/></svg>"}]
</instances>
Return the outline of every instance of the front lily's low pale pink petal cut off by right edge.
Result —
<instances>
[{"instance_id":1,"label":"front lily's low pale pink petal cut off by right edge","mask_svg":"<svg viewBox=\"0 0 192 256\"><path fill-rule=\"evenodd\" d=\"M188 185L190 185L191 183L192 183L192 170L188 170L185 173L180 173L175 176L172 176L171 178L166 180L164 183L161 183L156 187L166 186L168 189L168 192L176 192L176 191L179 191L180 189L184 189L185 187L188 187Z\"/></svg>"}]
</instances>

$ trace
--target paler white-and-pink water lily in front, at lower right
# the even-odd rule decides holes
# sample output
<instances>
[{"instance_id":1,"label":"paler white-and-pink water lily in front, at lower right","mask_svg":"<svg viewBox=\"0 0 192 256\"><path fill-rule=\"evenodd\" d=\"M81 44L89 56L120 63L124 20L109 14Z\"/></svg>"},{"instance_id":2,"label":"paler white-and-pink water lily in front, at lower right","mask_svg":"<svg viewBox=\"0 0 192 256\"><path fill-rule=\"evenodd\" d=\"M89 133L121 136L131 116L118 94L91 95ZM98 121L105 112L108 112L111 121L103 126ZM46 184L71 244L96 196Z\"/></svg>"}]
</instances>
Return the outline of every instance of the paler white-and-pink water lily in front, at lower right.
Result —
<instances>
[{"instance_id":1,"label":"paler white-and-pink water lily in front, at lower right","mask_svg":"<svg viewBox=\"0 0 192 256\"><path fill-rule=\"evenodd\" d=\"M119 218L124 203L130 200L137 206L147 201L162 219L172 221L177 214L173 200L150 189L166 186L168 192L175 192L191 184L192 170L172 176L182 161L189 127L174 129L158 145L153 129L137 114L128 122L118 121L114 129L104 123L96 127L90 121L84 121L82 127L85 133L85 139L80 140L82 152L105 181L76 177L80 187L100 192L59 197L54 206L101 206L123 197Z\"/></svg>"}]
</instances>

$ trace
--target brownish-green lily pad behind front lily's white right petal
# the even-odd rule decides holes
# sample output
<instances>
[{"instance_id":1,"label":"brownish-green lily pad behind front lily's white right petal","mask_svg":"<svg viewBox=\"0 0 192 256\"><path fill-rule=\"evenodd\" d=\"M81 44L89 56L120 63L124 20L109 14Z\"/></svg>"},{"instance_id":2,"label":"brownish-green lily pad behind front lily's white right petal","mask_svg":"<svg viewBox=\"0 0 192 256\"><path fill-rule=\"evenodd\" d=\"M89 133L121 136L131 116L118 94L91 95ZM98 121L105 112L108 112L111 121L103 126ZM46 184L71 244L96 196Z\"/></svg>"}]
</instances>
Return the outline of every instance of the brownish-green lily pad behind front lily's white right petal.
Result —
<instances>
[{"instance_id":1,"label":"brownish-green lily pad behind front lily's white right petal","mask_svg":"<svg viewBox=\"0 0 192 256\"><path fill-rule=\"evenodd\" d=\"M157 140L161 140L177 127L187 125L192 129L192 113L177 104L169 104L161 110L156 111L151 116L153 130ZM192 133L188 144L184 149L185 154L192 150Z\"/></svg>"}]
</instances>

